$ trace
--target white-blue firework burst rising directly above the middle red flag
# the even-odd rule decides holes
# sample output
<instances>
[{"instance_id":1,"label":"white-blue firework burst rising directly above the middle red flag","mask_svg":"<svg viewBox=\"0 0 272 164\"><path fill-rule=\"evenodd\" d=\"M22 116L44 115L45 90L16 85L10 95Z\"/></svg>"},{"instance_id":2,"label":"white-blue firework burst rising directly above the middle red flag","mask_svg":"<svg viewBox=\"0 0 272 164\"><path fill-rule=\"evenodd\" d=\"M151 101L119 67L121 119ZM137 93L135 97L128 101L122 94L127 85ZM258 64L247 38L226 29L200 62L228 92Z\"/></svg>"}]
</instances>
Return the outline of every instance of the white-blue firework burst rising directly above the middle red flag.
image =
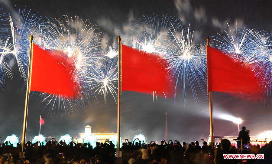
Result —
<instances>
[{"instance_id":1,"label":"white-blue firework burst rising directly above the middle red flag","mask_svg":"<svg viewBox=\"0 0 272 164\"><path fill-rule=\"evenodd\" d=\"M172 44L172 35L170 30L175 28L178 30L182 21L175 17L163 15L153 15L153 17L143 16L135 23L133 36L131 36L131 45L133 48L145 51L147 53L155 53L159 55L165 54L165 48Z\"/></svg>"}]
</instances>

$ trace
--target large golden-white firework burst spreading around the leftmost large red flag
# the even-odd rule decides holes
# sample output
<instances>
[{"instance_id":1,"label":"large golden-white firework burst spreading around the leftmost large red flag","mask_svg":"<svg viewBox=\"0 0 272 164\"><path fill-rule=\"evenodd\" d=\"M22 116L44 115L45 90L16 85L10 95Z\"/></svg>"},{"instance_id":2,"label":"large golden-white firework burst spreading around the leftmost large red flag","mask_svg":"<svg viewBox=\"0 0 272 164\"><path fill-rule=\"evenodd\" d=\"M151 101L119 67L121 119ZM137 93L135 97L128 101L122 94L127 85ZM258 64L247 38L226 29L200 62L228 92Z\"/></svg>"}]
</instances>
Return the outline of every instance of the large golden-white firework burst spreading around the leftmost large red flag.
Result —
<instances>
[{"instance_id":1,"label":"large golden-white firework burst spreading around the leftmost large red flag","mask_svg":"<svg viewBox=\"0 0 272 164\"><path fill-rule=\"evenodd\" d=\"M43 101L46 106L50 106L51 113L63 114L73 113L73 109L83 106L84 102L94 96L89 88L89 71L97 66L100 58L99 36L100 33L95 25L92 25L88 19L83 20L78 16L68 18L64 15L62 19L54 18L43 24L35 26L34 36L37 37L37 43L44 49L53 49L64 52L67 60L74 62L74 77L80 87L80 97L71 100L60 95L48 95L42 93ZM35 39L34 39L35 43ZM57 109L57 110L56 110ZM76 110L78 112L78 110Z\"/></svg>"}]
</instances>

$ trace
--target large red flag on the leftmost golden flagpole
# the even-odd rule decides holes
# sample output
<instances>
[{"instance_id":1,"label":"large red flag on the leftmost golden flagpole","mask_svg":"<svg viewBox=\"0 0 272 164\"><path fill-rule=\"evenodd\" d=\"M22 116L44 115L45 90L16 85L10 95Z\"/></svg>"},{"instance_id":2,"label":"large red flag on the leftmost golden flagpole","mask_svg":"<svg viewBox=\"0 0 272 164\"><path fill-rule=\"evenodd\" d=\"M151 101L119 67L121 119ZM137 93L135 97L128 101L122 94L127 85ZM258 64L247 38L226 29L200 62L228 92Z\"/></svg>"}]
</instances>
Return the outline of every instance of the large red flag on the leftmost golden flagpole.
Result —
<instances>
[{"instance_id":1,"label":"large red flag on the leftmost golden flagpole","mask_svg":"<svg viewBox=\"0 0 272 164\"><path fill-rule=\"evenodd\" d=\"M78 96L74 62L66 57L61 51L43 50L33 44L30 89L66 97Z\"/></svg>"}]
</instances>

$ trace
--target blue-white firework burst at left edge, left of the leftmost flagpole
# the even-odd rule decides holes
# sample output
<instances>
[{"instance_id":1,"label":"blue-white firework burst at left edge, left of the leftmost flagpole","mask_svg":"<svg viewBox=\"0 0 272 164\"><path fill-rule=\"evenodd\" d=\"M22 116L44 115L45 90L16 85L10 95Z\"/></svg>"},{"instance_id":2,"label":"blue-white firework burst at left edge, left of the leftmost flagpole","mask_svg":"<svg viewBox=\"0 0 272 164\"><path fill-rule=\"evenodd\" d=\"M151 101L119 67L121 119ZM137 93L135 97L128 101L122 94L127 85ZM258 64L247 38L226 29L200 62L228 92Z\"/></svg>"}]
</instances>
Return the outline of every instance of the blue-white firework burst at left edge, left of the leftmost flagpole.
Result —
<instances>
[{"instance_id":1,"label":"blue-white firework burst at left edge, left of the leftmost flagpole","mask_svg":"<svg viewBox=\"0 0 272 164\"><path fill-rule=\"evenodd\" d=\"M2 8L0 9L2 10ZM35 15L35 14L34 14ZM3 28L0 31L0 82L4 84L4 76L12 78L10 64L17 62L18 70L21 77L26 81L26 71L28 66L28 49L31 24L38 21L39 18L31 16L30 11L26 12L25 8L20 10L16 8L14 18L7 13L0 14L0 21L7 23L1 24ZM5 27L4 27L5 26ZM7 26L9 28L7 28Z\"/></svg>"}]
</instances>

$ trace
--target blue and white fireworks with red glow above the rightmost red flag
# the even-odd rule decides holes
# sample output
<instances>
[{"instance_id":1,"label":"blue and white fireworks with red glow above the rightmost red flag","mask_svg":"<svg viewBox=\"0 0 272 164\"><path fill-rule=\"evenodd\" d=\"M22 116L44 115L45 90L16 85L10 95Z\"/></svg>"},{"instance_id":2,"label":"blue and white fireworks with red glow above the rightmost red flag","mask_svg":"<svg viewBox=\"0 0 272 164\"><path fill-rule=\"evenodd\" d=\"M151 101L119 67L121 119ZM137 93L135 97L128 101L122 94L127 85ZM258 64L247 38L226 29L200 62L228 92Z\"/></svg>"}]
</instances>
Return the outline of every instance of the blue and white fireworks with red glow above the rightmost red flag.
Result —
<instances>
[{"instance_id":1,"label":"blue and white fireworks with red glow above the rightmost red flag","mask_svg":"<svg viewBox=\"0 0 272 164\"><path fill-rule=\"evenodd\" d=\"M228 54L236 62L253 71L260 81L260 85L271 93L272 86L272 53L271 34L254 29L237 26L232 30L229 25L229 33L219 34L212 38L212 45L225 54Z\"/></svg>"}]
</instances>

